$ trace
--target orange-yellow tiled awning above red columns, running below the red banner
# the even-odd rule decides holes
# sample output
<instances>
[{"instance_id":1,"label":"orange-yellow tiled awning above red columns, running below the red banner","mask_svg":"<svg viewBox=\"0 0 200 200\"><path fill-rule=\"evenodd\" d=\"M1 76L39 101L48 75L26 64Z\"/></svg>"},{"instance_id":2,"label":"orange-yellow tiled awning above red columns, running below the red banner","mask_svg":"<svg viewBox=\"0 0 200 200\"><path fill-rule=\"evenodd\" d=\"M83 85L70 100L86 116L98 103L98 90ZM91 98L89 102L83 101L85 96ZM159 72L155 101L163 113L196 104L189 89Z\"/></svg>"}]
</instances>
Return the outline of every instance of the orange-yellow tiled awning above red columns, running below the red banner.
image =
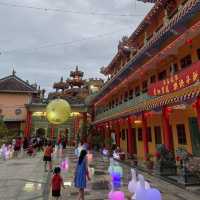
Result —
<instances>
[{"instance_id":1,"label":"orange-yellow tiled awning above red columns, running below the red banner","mask_svg":"<svg viewBox=\"0 0 200 200\"><path fill-rule=\"evenodd\" d=\"M196 97L198 97L199 95L200 95L200 82L197 82L194 85L191 85L182 90L145 100L123 112L118 112L117 114L115 113L101 120L97 120L94 122L94 124L102 123L111 119L113 120L119 117L126 117L129 116L130 114L137 115L142 112L158 110L164 106L175 106L180 103L184 102L187 103L187 101L191 101Z\"/></svg>"}]
</instances>

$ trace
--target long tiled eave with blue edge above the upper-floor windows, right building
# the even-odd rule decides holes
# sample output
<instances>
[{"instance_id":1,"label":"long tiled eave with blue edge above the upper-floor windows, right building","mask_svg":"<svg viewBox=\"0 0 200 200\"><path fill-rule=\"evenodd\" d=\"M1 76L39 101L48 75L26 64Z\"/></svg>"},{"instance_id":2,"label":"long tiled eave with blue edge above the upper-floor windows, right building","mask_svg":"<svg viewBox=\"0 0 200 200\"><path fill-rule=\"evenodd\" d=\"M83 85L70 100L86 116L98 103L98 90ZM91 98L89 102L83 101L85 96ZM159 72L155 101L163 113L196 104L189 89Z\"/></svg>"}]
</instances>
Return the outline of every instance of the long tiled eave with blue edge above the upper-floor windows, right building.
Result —
<instances>
[{"instance_id":1,"label":"long tiled eave with blue edge above the upper-floor windows, right building","mask_svg":"<svg viewBox=\"0 0 200 200\"><path fill-rule=\"evenodd\" d=\"M191 14L193 14L194 12L198 12L200 6L200 2L199 0L189 0L187 1L183 8L181 10L179 10L176 15L174 15L174 17L166 24L164 25L148 42L145 46L143 46L137 53L136 55L125 65L125 67L121 68L120 71L118 71L118 73L111 78L103 87L102 89L99 91L99 94L101 94L104 90L106 90L107 88L111 88L110 84L113 83L114 81L116 82L117 80L120 80L119 76L122 74L124 75L124 73L126 73L128 70L129 71L133 71L133 69L130 69L130 67L132 67L133 65L136 65L137 62L140 62L142 59L142 56L146 56L146 52L148 48L151 48L153 45L156 44L156 42L158 42L160 40L161 37L166 37L166 34L168 33L169 36L169 32L171 32L172 34L175 34L175 32L177 32L176 30L173 29L173 27L175 27L177 25L177 23L181 22L183 23L181 20L183 19L183 17L187 17L188 19L191 17ZM178 27L180 28L180 27ZM183 30L181 30L180 32L178 31L178 34L181 34L182 32L184 32ZM176 35L176 34L175 34ZM146 52L146 53L145 53ZM156 52L155 52L156 53ZM155 54L154 53L154 54ZM154 56L153 54L151 55L151 57ZM108 92L106 92L108 95ZM97 98L99 98L99 96L97 95ZM95 99L96 100L96 99Z\"/></svg>"}]
</instances>

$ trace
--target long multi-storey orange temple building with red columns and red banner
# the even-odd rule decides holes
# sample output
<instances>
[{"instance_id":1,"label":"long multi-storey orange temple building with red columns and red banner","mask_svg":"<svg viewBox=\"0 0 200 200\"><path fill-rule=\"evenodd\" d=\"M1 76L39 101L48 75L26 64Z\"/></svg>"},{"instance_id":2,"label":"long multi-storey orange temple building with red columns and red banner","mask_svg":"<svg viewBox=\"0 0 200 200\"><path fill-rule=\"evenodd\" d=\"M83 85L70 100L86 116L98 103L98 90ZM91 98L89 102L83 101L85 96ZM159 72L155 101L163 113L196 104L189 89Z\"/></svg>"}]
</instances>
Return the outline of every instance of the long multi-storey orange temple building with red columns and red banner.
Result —
<instances>
[{"instance_id":1,"label":"long multi-storey orange temple building with red columns and red banner","mask_svg":"<svg viewBox=\"0 0 200 200\"><path fill-rule=\"evenodd\" d=\"M199 10L199 0L155 1L101 69L93 125L129 155L143 160L159 144L200 155Z\"/></svg>"}]
</instances>

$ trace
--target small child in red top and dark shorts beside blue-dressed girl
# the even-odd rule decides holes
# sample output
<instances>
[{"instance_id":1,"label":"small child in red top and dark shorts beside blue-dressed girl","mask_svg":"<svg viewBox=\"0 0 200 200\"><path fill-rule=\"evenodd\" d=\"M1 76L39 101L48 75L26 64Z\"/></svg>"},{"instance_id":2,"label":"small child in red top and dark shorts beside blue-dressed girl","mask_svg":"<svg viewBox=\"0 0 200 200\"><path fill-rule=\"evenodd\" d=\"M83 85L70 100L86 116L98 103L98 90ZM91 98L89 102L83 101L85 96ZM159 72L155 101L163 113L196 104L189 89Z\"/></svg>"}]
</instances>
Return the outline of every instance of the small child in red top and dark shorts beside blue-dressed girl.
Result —
<instances>
[{"instance_id":1,"label":"small child in red top and dark shorts beside blue-dressed girl","mask_svg":"<svg viewBox=\"0 0 200 200\"><path fill-rule=\"evenodd\" d=\"M61 177L60 172L60 167L56 167L54 169L54 175L51 181L52 198L55 200L61 199L61 186L65 189L63 178Z\"/></svg>"}]
</instances>

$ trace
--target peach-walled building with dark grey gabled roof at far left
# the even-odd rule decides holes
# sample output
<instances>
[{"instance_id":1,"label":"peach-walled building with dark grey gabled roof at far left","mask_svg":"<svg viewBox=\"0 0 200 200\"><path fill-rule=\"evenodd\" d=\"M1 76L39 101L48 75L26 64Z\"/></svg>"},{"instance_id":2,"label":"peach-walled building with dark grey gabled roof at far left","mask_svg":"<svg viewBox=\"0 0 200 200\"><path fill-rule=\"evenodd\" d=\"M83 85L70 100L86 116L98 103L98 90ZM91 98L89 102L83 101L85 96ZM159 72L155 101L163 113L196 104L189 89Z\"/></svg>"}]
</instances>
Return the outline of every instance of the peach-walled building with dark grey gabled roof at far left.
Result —
<instances>
[{"instance_id":1,"label":"peach-walled building with dark grey gabled roof at far left","mask_svg":"<svg viewBox=\"0 0 200 200\"><path fill-rule=\"evenodd\" d=\"M23 135L27 132L28 109L26 105L43 98L44 90L12 75L0 79L0 117L8 129Z\"/></svg>"}]
</instances>

